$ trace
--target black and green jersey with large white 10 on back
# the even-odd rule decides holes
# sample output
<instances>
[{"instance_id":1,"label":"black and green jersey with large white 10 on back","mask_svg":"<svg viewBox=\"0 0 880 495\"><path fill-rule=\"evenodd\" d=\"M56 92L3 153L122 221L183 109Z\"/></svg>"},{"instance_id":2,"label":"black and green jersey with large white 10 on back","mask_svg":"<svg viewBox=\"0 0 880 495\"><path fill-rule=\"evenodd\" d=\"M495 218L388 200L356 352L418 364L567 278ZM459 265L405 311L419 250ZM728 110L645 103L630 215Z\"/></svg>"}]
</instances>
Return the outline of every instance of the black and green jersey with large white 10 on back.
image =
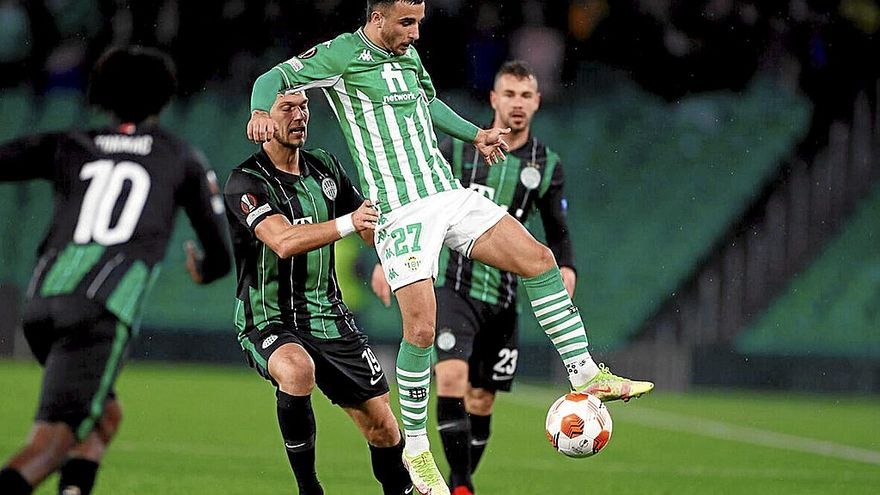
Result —
<instances>
[{"instance_id":1,"label":"black and green jersey with large white 10 on back","mask_svg":"<svg viewBox=\"0 0 880 495\"><path fill-rule=\"evenodd\" d=\"M229 271L223 200L201 153L159 127L41 134L0 146L0 181L54 186L28 297L82 294L132 325L183 207L205 282ZM182 269L183 267L181 267Z\"/></svg>"}]
</instances>

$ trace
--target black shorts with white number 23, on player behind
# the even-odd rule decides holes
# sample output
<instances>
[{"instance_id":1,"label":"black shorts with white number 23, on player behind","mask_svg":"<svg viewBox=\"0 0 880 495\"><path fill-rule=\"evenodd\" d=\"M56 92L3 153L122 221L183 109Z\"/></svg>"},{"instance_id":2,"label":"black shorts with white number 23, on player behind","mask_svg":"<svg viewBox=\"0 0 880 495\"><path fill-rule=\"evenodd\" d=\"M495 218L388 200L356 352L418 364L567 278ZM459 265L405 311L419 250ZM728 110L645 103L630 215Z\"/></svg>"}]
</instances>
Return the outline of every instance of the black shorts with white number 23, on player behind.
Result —
<instances>
[{"instance_id":1,"label":"black shorts with white number 23, on player behind","mask_svg":"<svg viewBox=\"0 0 880 495\"><path fill-rule=\"evenodd\" d=\"M468 363L471 386L509 392L519 355L516 305L505 308L438 287L437 360Z\"/></svg>"}]
</instances>

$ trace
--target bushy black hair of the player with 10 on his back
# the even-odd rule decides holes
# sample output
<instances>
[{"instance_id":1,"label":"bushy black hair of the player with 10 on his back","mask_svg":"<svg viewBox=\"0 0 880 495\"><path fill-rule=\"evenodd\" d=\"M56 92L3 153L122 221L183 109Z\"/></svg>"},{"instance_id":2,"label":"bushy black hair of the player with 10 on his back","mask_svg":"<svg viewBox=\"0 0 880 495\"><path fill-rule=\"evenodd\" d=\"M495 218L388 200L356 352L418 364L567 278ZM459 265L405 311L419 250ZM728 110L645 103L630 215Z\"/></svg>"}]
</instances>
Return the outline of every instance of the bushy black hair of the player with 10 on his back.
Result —
<instances>
[{"instance_id":1,"label":"bushy black hair of the player with 10 on his back","mask_svg":"<svg viewBox=\"0 0 880 495\"><path fill-rule=\"evenodd\" d=\"M171 58L155 48L111 48L92 69L89 102L125 122L142 122L171 100L175 72Z\"/></svg>"}]
</instances>

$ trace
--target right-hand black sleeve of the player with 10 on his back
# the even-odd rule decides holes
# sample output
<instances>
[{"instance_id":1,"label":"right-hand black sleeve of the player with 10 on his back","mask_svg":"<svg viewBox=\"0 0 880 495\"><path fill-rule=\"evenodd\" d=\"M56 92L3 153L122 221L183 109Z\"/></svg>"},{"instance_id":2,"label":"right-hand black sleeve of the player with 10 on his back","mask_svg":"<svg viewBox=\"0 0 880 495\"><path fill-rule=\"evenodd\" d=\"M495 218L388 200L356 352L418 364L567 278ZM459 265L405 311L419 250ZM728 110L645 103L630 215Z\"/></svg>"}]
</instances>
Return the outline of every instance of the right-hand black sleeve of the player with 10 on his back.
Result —
<instances>
[{"instance_id":1,"label":"right-hand black sleeve of the player with 10 on his back","mask_svg":"<svg viewBox=\"0 0 880 495\"><path fill-rule=\"evenodd\" d=\"M229 272L232 254L217 175L197 150L191 150L178 198L205 253L199 267L202 282L211 283Z\"/></svg>"}]
</instances>

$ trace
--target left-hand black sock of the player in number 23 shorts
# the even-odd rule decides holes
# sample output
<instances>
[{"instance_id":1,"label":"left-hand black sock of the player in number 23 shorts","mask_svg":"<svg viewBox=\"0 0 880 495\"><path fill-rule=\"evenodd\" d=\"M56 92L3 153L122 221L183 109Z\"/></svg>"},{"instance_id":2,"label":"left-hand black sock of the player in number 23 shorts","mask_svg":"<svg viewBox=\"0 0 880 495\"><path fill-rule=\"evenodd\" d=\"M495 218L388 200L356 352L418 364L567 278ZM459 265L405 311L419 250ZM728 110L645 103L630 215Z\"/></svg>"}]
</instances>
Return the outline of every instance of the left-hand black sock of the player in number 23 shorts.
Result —
<instances>
[{"instance_id":1,"label":"left-hand black sock of the player in number 23 shorts","mask_svg":"<svg viewBox=\"0 0 880 495\"><path fill-rule=\"evenodd\" d=\"M471 432L464 399L460 397L437 397L437 431L443 441L443 451L449 463L449 486L466 486L473 489L471 481Z\"/></svg>"}]
</instances>

